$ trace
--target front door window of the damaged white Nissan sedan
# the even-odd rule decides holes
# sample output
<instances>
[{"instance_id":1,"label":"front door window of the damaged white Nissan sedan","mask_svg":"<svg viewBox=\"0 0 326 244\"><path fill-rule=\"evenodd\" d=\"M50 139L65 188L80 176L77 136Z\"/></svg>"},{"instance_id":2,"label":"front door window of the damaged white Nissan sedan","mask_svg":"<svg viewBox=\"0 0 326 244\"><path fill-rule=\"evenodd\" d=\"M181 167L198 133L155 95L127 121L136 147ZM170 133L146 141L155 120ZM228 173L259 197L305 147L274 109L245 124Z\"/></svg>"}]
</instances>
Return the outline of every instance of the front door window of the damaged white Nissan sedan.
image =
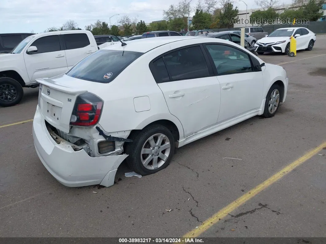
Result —
<instances>
[{"instance_id":1,"label":"front door window of the damaged white Nissan sedan","mask_svg":"<svg viewBox=\"0 0 326 244\"><path fill-rule=\"evenodd\" d=\"M252 71L249 55L243 51L224 45L206 45L206 48L219 75Z\"/></svg>"}]
</instances>

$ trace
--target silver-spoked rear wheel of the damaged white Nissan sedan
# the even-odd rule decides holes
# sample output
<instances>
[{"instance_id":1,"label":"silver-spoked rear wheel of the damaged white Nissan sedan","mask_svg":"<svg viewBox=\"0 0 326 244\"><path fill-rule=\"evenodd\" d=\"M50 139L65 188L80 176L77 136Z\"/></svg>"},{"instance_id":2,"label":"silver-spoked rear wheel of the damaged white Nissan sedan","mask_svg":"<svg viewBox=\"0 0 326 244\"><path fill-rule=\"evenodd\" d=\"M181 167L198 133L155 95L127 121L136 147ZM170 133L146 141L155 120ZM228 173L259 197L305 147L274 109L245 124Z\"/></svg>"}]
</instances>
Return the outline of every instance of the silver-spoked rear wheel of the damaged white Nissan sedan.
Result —
<instances>
[{"instance_id":1,"label":"silver-spoked rear wheel of the damaged white Nissan sedan","mask_svg":"<svg viewBox=\"0 0 326 244\"><path fill-rule=\"evenodd\" d=\"M162 137L161 144L158 141L159 136ZM153 141L152 144L149 143L151 137L156 145ZM159 124L151 125L140 133L133 134L130 139L133 142L126 144L126 154L129 155L126 162L137 174L142 176L154 174L170 164L175 150L175 141L167 127ZM162 150L163 145L166 146ZM164 159L160 156L164 156Z\"/></svg>"}]
</instances>

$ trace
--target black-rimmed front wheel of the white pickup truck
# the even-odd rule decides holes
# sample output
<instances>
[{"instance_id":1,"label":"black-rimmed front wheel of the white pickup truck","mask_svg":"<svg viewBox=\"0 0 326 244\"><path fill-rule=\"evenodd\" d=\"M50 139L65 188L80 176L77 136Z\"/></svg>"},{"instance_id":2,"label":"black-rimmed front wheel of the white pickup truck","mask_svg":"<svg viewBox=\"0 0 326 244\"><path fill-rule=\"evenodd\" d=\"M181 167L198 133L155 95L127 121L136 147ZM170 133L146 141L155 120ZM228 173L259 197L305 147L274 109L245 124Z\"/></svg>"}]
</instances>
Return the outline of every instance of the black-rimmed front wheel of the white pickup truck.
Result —
<instances>
[{"instance_id":1,"label":"black-rimmed front wheel of the white pickup truck","mask_svg":"<svg viewBox=\"0 0 326 244\"><path fill-rule=\"evenodd\" d=\"M0 77L0 106L10 107L22 101L22 85L10 77Z\"/></svg>"}]
</instances>

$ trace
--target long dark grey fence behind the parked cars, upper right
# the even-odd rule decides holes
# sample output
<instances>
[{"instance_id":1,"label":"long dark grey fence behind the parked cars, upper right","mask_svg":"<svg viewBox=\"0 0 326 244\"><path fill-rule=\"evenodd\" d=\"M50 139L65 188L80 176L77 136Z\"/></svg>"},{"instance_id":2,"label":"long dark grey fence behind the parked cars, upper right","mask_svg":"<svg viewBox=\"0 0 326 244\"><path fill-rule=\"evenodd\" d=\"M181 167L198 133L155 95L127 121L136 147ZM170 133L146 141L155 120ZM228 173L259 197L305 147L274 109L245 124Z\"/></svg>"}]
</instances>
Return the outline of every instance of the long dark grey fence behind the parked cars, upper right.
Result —
<instances>
[{"instance_id":1,"label":"long dark grey fence behind the parked cars, upper right","mask_svg":"<svg viewBox=\"0 0 326 244\"><path fill-rule=\"evenodd\" d=\"M250 27L249 25L247 27ZM272 24L272 25L263 25L261 26L264 31L268 32L268 34L272 33L274 30L279 28L287 28L287 27L305 27L311 30L316 34L326 33L326 21L316 21L309 22L309 24ZM220 32L220 31L238 31L241 27L236 28L223 28L223 29L212 29L212 31Z\"/></svg>"}]
</instances>

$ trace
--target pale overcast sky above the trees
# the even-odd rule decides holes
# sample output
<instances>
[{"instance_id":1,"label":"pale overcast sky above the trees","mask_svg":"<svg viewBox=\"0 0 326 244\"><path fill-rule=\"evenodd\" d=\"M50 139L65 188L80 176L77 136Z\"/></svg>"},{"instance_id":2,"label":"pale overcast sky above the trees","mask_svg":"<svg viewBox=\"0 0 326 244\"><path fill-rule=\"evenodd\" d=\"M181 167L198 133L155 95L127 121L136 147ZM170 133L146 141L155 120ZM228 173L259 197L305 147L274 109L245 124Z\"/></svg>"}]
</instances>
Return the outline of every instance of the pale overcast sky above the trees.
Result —
<instances>
[{"instance_id":1,"label":"pale overcast sky above the trees","mask_svg":"<svg viewBox=\"0 0 326 244\"><path fill-rule=\"evenodd\" d=\"M163 9L179 0L0 0L0 33L39 33L50 27L60 27L67 20L74 20L84 29L85 25L101 20L115 24L123 15L137 17L146 23L161 20ZM256 8L254 0L244 0L248 9ZM195 7L197 0L190 5ZM236 4L245 10L245 4ZM194 13L191 14L191 16Z\"/></svg>"}]
</instances>

